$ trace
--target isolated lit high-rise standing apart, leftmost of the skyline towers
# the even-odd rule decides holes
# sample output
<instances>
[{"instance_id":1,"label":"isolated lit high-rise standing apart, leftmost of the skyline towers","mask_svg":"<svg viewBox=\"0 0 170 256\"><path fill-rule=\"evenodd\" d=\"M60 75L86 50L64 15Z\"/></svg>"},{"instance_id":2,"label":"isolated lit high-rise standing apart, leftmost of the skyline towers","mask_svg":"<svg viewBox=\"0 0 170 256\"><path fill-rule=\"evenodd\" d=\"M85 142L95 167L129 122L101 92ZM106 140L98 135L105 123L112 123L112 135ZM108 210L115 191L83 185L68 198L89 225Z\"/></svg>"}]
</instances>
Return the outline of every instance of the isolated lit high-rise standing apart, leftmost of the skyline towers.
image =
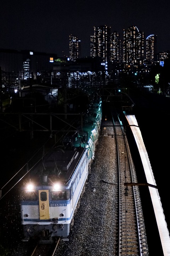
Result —
<instances>
[{"instance_id":1,"label":"isolated lit high-rise standing apart, leftmost of the skyline towers","mask_svg":"<svg viewBox=\"0 0 170 256\"><path fill-rule=\"evenodd\" d=\"M75 61L81 58L81 41L78 40L77 36L69 37L69 47L70 47L70 60Z\"/></svg>"}]
</instances>

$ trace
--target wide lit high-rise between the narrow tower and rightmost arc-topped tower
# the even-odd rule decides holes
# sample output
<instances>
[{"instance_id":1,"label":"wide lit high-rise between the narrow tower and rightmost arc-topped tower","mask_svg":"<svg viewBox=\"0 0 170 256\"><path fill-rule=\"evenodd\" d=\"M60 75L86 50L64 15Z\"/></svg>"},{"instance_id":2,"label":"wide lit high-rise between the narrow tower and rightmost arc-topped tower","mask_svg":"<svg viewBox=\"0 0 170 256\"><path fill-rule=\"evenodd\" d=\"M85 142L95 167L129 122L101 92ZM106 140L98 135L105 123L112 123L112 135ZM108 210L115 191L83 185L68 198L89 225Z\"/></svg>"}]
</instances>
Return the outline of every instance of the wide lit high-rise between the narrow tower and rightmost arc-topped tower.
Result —
<instances>
[{"instance_id":1,"label":"wide lit high-rise between the narrow tower and rightmost arc-topped tower","mask_svg":"<svg viewBox=\"0 0 170 256\"><path fill-rule=\"evenodd\" d=\"M140 64L144 59L144 33L136 26L123 30L123 62Z\"/></svg>"}]
</instances>

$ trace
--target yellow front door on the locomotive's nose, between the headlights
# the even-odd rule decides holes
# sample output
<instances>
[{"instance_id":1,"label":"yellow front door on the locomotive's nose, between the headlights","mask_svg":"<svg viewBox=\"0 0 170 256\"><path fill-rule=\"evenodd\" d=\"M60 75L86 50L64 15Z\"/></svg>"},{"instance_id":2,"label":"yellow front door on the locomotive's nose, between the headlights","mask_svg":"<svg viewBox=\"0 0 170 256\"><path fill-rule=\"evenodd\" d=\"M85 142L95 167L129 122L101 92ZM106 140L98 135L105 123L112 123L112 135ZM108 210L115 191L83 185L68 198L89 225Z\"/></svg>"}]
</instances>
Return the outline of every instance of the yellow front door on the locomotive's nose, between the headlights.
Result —
<instances>
[{"instance_id":1,"label":"yellow front door on the locomotive's nose, between the headlights","mask_svg":"<svg viewBox=\"0 0 170 256\"><path fill-rule=\"evenodd\" d=\"M39 212L40 219L50 219L49 213L49 191L39 190Z\"/></svg>"}]
</instances>

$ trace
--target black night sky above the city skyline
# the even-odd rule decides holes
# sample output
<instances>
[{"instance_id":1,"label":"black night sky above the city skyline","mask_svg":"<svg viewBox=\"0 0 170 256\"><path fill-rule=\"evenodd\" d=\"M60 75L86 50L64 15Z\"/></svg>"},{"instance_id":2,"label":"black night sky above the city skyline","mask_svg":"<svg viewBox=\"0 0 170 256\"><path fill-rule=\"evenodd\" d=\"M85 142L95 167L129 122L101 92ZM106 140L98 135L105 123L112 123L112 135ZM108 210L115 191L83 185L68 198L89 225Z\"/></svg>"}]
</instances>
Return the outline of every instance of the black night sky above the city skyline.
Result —
<instances>
[{"instance_id":1,"label":"black night sky above the city skyline","mask_svg":"<svg viewBox=\"0 0 170 256\"><path fill-rule=\"evenodd\" d=\"M0 4L0 48L69 56L69 35L81 41L81 57L90 56L94 27L111 32L136 26L157 35L157 52L170 50L168 0L4 0Z\"/></svg>"}]
</instances>

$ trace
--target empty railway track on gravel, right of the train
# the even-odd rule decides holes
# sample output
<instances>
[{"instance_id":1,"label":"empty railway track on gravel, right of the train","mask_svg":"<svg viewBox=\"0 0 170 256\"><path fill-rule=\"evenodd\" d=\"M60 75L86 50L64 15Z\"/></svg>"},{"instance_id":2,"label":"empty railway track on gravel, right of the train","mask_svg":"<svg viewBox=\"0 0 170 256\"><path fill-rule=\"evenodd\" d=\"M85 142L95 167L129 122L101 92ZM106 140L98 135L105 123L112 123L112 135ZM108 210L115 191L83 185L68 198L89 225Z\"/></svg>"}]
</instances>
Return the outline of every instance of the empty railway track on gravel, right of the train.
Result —
<instances>
[{"instance_id":1,"label":"empty railway track on gravel, right of the train","mask_svg":"<svg viewBox=\"0 0 170 256\"><path fill-rule=\"evenodd\" d=\"M112 113L114 113L112 137L115 138L117 148L119 184L117 255L149 255L140 193L137 186L126 185L126 183L137 183L126 131L116 111Z\"/></svg>"}]
</instances>

